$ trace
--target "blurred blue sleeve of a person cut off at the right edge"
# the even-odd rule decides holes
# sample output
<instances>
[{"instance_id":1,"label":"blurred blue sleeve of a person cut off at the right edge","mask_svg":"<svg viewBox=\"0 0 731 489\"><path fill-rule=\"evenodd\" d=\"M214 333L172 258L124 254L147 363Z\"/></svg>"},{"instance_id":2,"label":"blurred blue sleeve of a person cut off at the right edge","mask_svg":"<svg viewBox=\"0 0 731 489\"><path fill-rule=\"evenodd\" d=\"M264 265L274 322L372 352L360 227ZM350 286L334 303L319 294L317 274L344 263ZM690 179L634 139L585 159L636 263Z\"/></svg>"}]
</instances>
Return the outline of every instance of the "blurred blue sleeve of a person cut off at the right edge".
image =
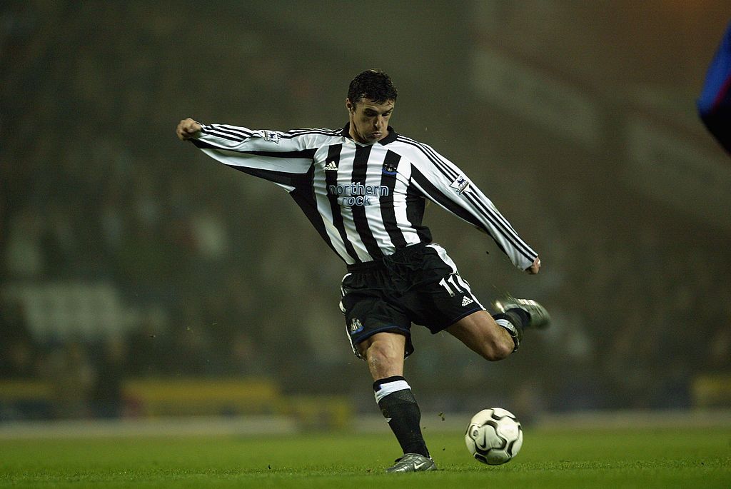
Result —
<instances>
[{"instance_id":1,"label":"blurred blue sleeve of a person cut off at the right edge","mask_svg":"<svg viewBox=\"0 0 731 489\"><path fill-rule=\"evenodd\" d=\"M731 23L705 75L698 113L711 134L731 154Z\"/></svg>"}]
</instances>

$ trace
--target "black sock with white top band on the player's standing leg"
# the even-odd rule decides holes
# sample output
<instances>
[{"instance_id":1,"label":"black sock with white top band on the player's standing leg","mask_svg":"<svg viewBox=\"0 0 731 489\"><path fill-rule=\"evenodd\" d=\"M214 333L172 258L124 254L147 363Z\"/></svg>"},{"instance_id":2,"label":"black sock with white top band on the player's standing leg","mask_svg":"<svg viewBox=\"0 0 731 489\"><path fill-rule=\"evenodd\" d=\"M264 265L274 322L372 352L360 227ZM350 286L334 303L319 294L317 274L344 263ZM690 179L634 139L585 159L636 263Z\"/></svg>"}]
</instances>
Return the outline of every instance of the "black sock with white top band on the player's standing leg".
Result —
<instances>
[{"instance_id":1,"label":"black sock with white top band on the player's standing leg","mask_svg":"<svg viewBox=\"0 0 731 489\"><path fill-rule=\"evenodd\" d=\"M376 402L404 453L429 456L421 433L421 410L411 387L402 376L376 380L373 384Z\"/></svg>"}]
</instances>

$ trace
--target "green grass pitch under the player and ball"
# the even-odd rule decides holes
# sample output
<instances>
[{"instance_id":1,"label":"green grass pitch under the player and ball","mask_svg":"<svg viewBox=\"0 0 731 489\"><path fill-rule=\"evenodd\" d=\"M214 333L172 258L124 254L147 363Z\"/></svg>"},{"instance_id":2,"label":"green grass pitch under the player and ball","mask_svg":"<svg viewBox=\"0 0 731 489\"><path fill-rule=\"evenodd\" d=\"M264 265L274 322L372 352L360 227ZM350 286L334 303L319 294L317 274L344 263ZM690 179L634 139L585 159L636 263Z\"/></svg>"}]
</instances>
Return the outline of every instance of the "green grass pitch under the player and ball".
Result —
<instances>
[{"instance_id":1,"label":"green grass pitch under the player and ball","mask_svg":"<svg viewBox=\"0 0 731 489\"><path fill-rule=\"evenodd\" d=\"M731 488L731 428L531 429L510 463L425 433L439 471L384 474L390 434L0 440L12 488Z\"/></svg>"}]
</instances>

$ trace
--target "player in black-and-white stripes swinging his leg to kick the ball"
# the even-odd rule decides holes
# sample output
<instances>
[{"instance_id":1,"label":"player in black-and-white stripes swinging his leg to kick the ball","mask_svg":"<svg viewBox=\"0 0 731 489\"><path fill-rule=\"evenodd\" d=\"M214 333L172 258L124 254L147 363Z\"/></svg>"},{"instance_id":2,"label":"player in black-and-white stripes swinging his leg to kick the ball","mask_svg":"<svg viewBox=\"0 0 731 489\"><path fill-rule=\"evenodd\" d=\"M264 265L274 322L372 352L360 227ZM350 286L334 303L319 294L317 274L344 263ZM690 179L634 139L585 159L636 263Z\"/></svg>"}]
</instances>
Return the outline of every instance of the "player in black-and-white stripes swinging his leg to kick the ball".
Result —
<instances>
[{"instance_id":1,"label":"player in black-and-white stripes swinging his leg to kick the ball","mask_svg":"<svg viewBox=\"0 0 731 489\"><path fill-rule=\"evenodd\" d=\"M545 308L507 297L488 314L442 246L422 224L436 202L495 240L513 264L538 273L538 255L462 170L428 145L389 126L397 91L382 71L349 85L342 129L254 130L224 124L178 124L208 156L287 190L348 273L341 311L355 355L366 360L376 402L404 455L388 472L435 470L421 413L404 378L414 352L412 323L446 330L487 360L520 345L527 327L545 327Z\"/></svg>"}]
</instances>

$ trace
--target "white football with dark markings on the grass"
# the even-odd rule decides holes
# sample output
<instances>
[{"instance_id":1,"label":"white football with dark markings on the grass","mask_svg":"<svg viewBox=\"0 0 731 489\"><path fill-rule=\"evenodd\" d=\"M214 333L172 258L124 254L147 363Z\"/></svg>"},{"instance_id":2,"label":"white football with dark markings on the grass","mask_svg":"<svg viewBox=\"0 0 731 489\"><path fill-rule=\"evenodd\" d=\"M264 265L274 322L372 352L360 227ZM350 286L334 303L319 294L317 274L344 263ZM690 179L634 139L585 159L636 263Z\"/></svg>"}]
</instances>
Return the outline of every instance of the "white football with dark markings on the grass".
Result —
<instances>
[{"instance_id":1,"label":"white football with dark markings on the grass","mask_svg":"<svg viewBox=\"0 0 731 489\"><path fill-rule=\"evenodd\" d=\"M507 409L482 409L469 420L464 433L467 450L488 465L509 462L523 446L523 429Z\"/></svg>"}]
</instances>

